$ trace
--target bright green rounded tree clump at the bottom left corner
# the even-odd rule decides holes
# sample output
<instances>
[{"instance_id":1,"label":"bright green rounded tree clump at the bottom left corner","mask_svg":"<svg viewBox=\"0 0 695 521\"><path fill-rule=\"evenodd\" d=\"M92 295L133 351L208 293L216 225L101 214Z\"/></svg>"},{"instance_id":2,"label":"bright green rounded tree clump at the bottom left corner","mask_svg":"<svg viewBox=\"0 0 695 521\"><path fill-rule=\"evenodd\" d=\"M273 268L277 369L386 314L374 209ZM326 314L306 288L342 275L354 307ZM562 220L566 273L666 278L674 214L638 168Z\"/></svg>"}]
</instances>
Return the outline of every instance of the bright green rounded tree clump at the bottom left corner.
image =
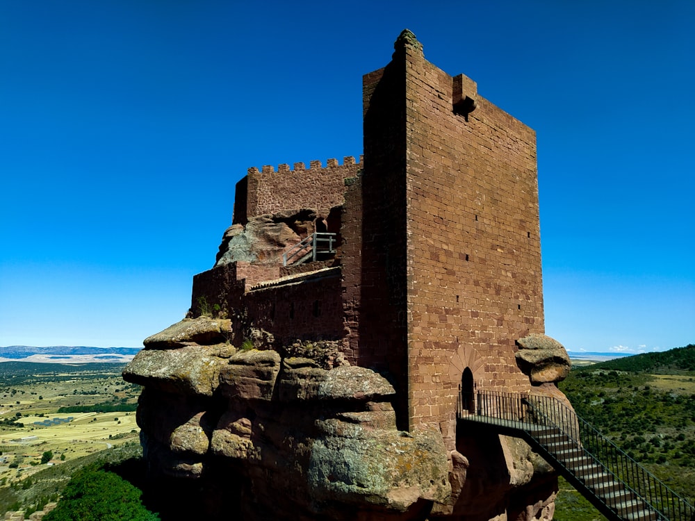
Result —
<instances>
[{"instance_id":1,"label":"bright green rounded tree clump at the bottom left corner","mask_svg":"<svg viewBox=\"0 0 695 521\"><path fill-rule=\"evenodd\" d=\"M142 492L108 465L78 470L63 490L58 506L44 521L150 521L158 515L142 505Z\"/></svg>"}]
</instances>

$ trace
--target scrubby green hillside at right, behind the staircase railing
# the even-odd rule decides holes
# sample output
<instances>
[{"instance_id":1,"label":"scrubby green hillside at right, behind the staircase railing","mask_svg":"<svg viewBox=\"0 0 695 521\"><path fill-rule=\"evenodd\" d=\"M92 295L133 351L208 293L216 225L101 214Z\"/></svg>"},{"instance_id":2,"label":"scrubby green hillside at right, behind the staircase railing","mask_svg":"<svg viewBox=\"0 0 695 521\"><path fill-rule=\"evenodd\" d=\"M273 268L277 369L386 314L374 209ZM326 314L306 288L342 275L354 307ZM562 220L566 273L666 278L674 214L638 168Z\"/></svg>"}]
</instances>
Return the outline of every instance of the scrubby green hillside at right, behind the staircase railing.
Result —
<instances>
[{"instance_id":1,"label":"scrubby green hillside at right, behind the staircase railing","mask_svg":"<svg viewBox=\"0 0 695 521\"><path fill-rule=\"evenodd\" d=\"M694 502L695 345L581 367L559 388L578 415ZM580 519L573 513L562 517L573 511L575 500L561 486L558 520ZM595 510L593 515L603 519Z\"/></svg>"}]
</instances>

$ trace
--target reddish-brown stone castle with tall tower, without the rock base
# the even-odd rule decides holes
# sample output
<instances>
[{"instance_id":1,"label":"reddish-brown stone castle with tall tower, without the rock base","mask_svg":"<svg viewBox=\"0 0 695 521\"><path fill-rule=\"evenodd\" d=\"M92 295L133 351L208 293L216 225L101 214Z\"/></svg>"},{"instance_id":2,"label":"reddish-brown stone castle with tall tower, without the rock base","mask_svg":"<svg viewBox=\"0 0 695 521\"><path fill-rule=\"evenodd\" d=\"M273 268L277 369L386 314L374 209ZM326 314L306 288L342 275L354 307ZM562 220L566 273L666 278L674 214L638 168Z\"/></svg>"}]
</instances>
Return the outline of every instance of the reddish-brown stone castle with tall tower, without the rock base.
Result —
<instances>
[{"instance_id":1,"label":"reddish-brown stone castle with tall tower, without the rock base","mask_svg":"<svg viewBox=\"0 0 695 521\"><path fill-rule=\"evenodd\" d=\"M534 131L425 60L409 31L363 77L363 117L359 162L249 170L191 315L226 313L236 342L251 329L332 342L391 380L400 429L436 423L452 449L462 382L530 388L515 353L543 333ZM335 253L284 265L315 231L335 234Z\"/></svg>"}]
</instances>

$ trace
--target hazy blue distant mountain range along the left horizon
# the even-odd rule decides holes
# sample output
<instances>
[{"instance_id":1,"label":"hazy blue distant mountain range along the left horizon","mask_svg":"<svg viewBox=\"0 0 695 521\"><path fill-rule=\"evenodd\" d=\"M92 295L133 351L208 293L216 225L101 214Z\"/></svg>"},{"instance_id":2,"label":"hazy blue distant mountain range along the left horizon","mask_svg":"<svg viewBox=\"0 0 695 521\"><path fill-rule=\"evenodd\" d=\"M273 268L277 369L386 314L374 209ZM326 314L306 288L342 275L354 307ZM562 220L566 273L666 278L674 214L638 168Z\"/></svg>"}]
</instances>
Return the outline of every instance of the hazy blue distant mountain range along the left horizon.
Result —
<instances>
[{"instance_id":1,"label":"hazy blue distant mountain range along the left horizon","mask_svg":"<svg viewBox=\"0 0 695 521\"><path fill-rule=\"evenodd\" d=\"M0 347L0 362L10 360L53 363L127 362L132 360L140 349L139 347L87 347L81 345L49 347L9 345Z\"/></svg>"}]
</instances>

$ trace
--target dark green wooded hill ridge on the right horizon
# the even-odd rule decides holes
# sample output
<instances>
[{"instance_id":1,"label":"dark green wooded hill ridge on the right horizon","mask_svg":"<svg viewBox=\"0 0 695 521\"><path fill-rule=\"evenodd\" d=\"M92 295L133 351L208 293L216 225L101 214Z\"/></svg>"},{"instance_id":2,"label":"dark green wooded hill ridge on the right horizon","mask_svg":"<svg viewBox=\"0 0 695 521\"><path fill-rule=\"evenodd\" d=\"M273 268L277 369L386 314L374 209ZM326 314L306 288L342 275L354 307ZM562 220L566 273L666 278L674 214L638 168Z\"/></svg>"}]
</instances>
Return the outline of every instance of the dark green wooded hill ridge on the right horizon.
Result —
<instances>
[{"instance_id":1,"label":"dark green wooded hill ridge on the right horizon","mask_svg":"<svg viewBox=\"0 0 695 521\"><path fill-rule=\"evenodd\" d=\"M597 369L648 374L687 374L695 372L695 345L689 344L659 353L624 356L582 367L579 370Z\"/></svg>"}]
</instances>

